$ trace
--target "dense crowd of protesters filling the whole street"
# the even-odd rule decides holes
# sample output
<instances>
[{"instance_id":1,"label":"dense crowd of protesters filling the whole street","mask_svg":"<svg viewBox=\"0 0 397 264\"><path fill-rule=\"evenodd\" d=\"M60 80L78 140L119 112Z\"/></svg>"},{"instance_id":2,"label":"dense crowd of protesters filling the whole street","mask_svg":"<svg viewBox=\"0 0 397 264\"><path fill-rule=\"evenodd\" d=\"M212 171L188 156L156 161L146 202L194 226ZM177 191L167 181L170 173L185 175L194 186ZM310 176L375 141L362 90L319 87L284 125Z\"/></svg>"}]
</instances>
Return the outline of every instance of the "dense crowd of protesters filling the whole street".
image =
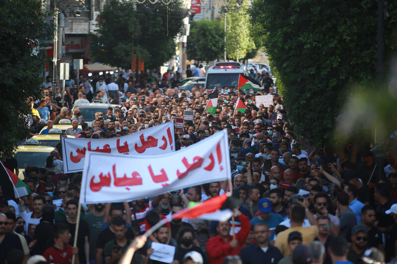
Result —
<instances>
[{"instance_id":1,"label":"dense crowd of protesters filling the whole street","mask_svg":"<svg viewBox=\"0 0 397 264\"><path fill-rule=\"evenodd\" d=\"M294 133L282 98L266 79L268 73L251 73L261 80L263 91L218 87L214 114L204 111L212 89L179 90L178 71L138 76L123 72L116 80L79 76L76 82L66 82L64 95L55 87L55 100L48 77L42 98L28 101L32 134L39 126L50 129L70 119L72 128L66 134L107 139L175 122L184 110L193 110L194 120L185 121L184 129L175 133L175 148L189 148L227 130L232 190L227 181L211 182L136 201L81 205L75 232L82 174L63 173L58 144L43 167L26 167L24 182L31 191L27 196L0 199L0 264L70 264L72 256L73 264L162 263L151 258L153 242L175 247L172 264L396 263L395 139L385 143L384 163L375 159L370 144L354 161L336 156L336 146L316 149L310 139ZM255 96L267 94L273 104L257 106ZM247 106L244 113L235 111L238 97ZM78 108L70 111L80 102L109 99L120 107L95 113L92 123L84 122ZM12 157L2 162L17 172ZM147 241L140 236L190 202L226 192L240 200L234 221L173 219Z\"/></svg>"}]
</instances>

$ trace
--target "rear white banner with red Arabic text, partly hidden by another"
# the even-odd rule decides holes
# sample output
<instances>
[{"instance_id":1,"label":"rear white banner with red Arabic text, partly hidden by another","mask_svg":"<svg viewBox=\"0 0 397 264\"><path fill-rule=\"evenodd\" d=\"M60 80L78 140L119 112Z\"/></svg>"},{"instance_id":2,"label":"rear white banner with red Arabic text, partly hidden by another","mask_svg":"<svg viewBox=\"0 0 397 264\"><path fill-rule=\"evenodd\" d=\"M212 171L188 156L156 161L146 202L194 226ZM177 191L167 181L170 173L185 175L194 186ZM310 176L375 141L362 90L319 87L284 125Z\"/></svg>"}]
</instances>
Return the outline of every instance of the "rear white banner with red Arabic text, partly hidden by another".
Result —
<instances>
[{"instance_id":1,"label":"rear white banner with red Arabic text, partly hidden by another","mask_svg":"<svg viewBox=\"0 0 397 264\"><path fill-rule=\"evenodd\" d=\"M85 153L89 151L153 156L175 152L174 146L174 122L166 122L116 138L62 138L64 173L82 171Z\"/></svg>"}]
</instances>

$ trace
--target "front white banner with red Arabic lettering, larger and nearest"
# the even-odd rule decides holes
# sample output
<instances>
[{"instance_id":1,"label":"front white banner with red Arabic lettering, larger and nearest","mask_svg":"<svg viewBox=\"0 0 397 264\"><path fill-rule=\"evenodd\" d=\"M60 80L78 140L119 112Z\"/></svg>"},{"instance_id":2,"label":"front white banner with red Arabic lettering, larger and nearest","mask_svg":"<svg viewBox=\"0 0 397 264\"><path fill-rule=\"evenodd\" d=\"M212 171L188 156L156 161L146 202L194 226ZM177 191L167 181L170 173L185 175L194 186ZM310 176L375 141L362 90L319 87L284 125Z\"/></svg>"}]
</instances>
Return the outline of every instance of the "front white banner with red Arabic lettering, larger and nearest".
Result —
<instances>
[{"instance_id":1,"label":"front white banner with red Arabic lettering, larger and nearest","mask_svg":"<svg viewBox=\"0 0 397 264\"><path fill-rule=\"evenodd\" d=\"M230 178L227 130L175 153L142 157L87 152L80 203L113 203L157 196Z\"/></svg>"}]
</instances>

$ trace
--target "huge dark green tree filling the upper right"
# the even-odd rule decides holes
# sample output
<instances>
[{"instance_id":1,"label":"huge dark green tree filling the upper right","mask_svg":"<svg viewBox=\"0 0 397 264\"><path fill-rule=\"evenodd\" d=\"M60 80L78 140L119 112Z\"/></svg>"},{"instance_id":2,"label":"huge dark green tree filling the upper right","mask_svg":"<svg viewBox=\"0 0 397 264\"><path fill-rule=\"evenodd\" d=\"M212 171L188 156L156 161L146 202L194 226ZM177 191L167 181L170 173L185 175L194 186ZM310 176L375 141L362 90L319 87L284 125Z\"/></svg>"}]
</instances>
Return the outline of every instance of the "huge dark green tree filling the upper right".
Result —
<instances>
[{"instance_id":1,"label":"huge dark green tree filling the upper right","mask_svg":"<svg viewBox=\"0 0 397 264\"><path fill-rule=\"evenodd\" d=\"M392 51L395 2L388 12L385 50ZM254 0L250 13L296 132L316 145L329 141L346 87L375 77L377 2Z\"/></svg>"}]
</instances>

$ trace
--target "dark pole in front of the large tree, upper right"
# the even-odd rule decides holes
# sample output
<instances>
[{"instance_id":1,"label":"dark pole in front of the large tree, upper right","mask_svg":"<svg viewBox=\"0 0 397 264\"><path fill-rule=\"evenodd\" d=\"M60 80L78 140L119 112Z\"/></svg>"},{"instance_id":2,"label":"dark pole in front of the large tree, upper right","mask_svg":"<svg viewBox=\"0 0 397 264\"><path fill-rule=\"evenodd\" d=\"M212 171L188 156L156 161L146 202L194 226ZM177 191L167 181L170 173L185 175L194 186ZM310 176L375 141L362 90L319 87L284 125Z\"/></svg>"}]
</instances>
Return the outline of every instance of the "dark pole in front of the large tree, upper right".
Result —
<instances>
[{"instance_id":1,"label":"dark pole in front of the large tree, upper right","mask_svg":"<svg viewBox=\"0 0 397 264\"><path fill-rule=\"evenodd\" d=\"M385 62L385 0L378 0L378 50L376 77L381 81L384 75Z\"/></svg>"}]
</instances>

